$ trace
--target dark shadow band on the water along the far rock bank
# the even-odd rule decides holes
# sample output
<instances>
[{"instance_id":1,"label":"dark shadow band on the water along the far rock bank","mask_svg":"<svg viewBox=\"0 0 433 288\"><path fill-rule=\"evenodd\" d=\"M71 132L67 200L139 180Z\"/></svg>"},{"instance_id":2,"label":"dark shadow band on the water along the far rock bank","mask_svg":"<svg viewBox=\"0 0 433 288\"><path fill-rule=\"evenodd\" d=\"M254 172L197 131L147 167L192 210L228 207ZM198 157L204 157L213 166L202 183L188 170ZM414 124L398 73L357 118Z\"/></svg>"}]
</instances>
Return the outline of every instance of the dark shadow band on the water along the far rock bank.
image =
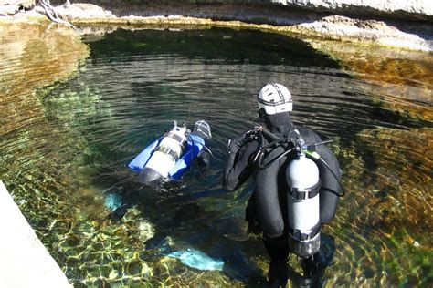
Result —
<instances>
[{"instance_id":1,"label":"dark shadow band on the water along the far rock bank","mask_svg":"<svg viewBox=\"0 0 433 288\"><path fill-rule=\"evenodd\" d=\"M226 64L339 67L335 60L302 40L255 30L210 28L180 32L178 29L120 29L89 45L93 61L99 58L116 61L116 58L121 60L128 56L167 54L203 57L205 64L224 61Z\"/></svg>"}]
</instances>

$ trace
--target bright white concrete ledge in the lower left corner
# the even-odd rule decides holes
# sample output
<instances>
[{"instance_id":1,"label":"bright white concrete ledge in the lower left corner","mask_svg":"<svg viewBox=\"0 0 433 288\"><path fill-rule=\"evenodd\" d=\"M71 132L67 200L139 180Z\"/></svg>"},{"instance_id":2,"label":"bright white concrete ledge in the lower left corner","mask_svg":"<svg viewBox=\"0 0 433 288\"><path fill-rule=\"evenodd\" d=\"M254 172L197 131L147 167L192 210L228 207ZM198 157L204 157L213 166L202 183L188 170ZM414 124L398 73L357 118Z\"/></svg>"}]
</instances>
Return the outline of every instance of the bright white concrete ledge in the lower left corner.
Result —
<instances>
[{"instance_id":1,"label":"bright white concrete ledge in the lower left corner","mask_svg":"<svg viewBox=\"0 0 433 288\"><path fill-rule=\"evenodd\" d=\"M0 180L0 286L72 287Z\"/></svg>"}]
</instances>

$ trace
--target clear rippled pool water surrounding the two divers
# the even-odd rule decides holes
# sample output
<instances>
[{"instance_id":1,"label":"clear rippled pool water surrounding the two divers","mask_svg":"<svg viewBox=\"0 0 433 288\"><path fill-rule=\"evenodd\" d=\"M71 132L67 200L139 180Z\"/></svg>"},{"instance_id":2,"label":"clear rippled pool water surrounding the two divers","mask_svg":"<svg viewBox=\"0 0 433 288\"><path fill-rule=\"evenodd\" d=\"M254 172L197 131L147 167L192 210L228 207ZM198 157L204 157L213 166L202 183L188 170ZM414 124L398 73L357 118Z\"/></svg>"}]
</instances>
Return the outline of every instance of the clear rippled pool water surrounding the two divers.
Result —
<instances>
[{"instance_id":1,"label":"clear rippled pool water surrounding the two divers","mask_svg":"<svg viewBox=\"0 0 433 288\"><path fill-rule=\"evenodd\" d=\"M400 81L375 69L350 77L300 40L253 31L118 30L88 45L79 74L48 87L52 67L34 64L25 74L24 57L13 53L0 63L8 84L22 75L47 79L34 85L36 94L33 87L2 91L2 108L16 108L14 119L2 109L0 178L76 286L265 282L268 256L259 237L245 233L249 187L227 194L221 172L227 139L256 123L256 94L270 81L290 87L296 122L334 139L343 169L348 194L323 228L329 267L319 281L428 284L431 98L401 100L405 110L427 111L402 115L386 83L431 92L431 70L423 68L431 57L419 67L414 60ZM39 49L27 45L24 55ZM385 83L380 93L378 83ZM191 126L199 118L214 134L211 168L164 190L139 184L125 164L174 119ZM109 217L109 195L128 204L120 219ZM223 260L223 271L205 273L166 256L187 249ZM301 263L293 257L290 267L291 281L301 281Z\"/></svg>"}]
</instances>

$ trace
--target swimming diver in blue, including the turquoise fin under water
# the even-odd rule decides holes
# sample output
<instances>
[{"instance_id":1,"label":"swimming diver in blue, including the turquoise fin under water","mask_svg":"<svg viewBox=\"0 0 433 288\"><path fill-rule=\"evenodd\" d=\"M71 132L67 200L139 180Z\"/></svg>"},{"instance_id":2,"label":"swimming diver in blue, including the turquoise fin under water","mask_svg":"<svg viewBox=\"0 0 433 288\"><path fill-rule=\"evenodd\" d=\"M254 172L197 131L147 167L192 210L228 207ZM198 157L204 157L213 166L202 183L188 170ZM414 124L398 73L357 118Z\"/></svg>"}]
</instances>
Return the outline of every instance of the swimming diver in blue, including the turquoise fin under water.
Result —
<instances>
[{"instance_id":1,"label":"swimming diver in blue, including the turquoise fin under water","mask_svg":"<svg viewBox=\"0 0 433 288\"><path fill-rule=\"evenodd\" d=\"M164 188L166 180L181 180L186 171L193 166L208 166L212 152L206 147L206 140L211 139L210 126L205 120L196 121L192 130L185 125L166 129L164 135L154 140L143 149L128 168L139 172L140 185L153 189ZM109 218L120 219L126 211L139 200L136 193L125 195L108 191L105 205L111 210Z\"/></svg>"}]
</instances>

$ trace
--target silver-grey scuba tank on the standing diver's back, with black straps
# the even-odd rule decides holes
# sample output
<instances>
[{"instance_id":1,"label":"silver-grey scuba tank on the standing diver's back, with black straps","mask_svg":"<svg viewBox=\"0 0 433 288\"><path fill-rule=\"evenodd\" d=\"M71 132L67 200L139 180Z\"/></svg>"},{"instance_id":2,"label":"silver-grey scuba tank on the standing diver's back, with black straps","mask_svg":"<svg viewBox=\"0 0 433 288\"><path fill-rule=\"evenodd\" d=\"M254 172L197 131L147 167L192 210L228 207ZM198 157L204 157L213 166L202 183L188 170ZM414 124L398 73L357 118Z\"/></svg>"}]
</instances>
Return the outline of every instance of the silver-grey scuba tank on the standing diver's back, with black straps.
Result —
<instances>
[{"instance_id":1,"label":"silver-grey scuba tank on the standing diver's back, with black straps","mask_svg":"<svg viewBox=\"0 0 433 288\"><path fill-rule=\"evenodd\" d=\"M299 142L299 140L298 140ZM290 251L307 258L318 252L320 240L319 168L298 145L298 157L286 168Z\"/></svg>"}]
</instances>

